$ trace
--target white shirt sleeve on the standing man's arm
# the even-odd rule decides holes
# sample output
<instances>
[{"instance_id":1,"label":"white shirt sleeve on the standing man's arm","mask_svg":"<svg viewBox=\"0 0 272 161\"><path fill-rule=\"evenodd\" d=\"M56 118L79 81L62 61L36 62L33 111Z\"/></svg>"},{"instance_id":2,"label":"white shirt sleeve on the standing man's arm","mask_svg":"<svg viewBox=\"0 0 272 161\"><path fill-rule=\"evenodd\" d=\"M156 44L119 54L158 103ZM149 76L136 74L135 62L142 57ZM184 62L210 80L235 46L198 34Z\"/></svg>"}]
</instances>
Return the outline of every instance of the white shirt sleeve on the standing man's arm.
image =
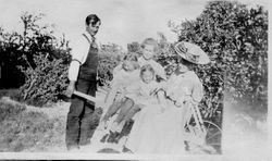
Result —
<instances>
[{"instance_id":1,"label":"white shirt sleeve on the standing man's arm","mask_svg":"<svg viewBox=\"0 0 272 161\"><path fill-rule=\"evenodd\" d=\"M81 36L72 41L71 48L72 62L69 67L69 79L77 81L79 66L85 62L88 54L89 42L84 36Z\"/></svg>"}]
</instances>

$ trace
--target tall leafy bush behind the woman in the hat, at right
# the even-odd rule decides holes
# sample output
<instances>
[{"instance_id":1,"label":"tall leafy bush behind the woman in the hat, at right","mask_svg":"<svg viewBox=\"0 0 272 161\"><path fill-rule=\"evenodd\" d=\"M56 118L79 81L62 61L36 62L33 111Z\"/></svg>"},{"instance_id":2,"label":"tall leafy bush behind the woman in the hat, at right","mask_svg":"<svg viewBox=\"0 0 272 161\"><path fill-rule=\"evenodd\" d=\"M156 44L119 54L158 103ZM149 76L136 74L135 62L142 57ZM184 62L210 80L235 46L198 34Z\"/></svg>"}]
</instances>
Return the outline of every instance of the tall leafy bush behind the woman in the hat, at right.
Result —
<instances>
[{"instance_id":1,"label":"tall leafy bush behind the woman in the hat, at right","mask_svg":"<svg viewBox=\"0 0 272 161\"><path fill-rule=\"evenodd\" d=\"M223 94L267 111L268 12L262 7L211 1L195 21L169 25L180 40L199 45L211 58L210 65L196 69L206 89L203 113L221 111Z\"/></svg>"}]
</instances>

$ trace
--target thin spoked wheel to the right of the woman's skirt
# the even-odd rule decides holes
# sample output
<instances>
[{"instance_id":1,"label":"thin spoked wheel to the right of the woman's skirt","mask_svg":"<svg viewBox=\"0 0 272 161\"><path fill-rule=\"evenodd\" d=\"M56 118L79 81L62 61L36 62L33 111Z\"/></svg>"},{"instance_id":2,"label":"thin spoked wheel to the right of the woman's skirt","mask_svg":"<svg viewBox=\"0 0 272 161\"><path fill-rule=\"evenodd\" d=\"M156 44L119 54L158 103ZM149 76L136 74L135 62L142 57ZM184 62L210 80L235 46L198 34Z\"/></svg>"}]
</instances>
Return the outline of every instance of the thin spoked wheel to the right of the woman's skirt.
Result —
<instances>
[{"instance_id":1,"label":"thin spoked wheel to the right of the woman's skirt","mask_svg":"<svg viewBox=\"0 0 272 161\"><path fill-rule=\"evenodd\" d=\"M217 153L221 153L222 129L210 121L203 121L207 131L206 145L212 147Z\"/></svg>"}]
</instances>

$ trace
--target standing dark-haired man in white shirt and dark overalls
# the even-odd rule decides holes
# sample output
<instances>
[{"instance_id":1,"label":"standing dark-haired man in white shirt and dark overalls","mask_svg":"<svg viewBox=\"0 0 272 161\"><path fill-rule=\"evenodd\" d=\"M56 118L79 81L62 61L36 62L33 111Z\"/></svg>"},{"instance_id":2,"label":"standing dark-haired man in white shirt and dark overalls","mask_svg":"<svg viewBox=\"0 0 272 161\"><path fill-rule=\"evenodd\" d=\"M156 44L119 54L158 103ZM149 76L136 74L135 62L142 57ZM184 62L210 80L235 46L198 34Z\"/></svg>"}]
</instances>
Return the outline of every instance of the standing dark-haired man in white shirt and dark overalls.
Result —
<instances>
[{"instance_id":1,"label":"standing dark-haired man in white shirt and dark overalls","mask_svg":"<svg viewBox=\"0 0 272 161\"><path fill-rule=\"evenodd\" d=\"M96 14L86 17L86 30L72 46L72 62L69 69L70 84L66 96L72 103L66 123L67 150L90 144L90 137L97 125L91 124L95 102L86 101L73 95L74 90L95 97L97 89L98 46L95 35L101 24ZM72 96L73 95L73 96Z\"/></svg>"}]
</instances>

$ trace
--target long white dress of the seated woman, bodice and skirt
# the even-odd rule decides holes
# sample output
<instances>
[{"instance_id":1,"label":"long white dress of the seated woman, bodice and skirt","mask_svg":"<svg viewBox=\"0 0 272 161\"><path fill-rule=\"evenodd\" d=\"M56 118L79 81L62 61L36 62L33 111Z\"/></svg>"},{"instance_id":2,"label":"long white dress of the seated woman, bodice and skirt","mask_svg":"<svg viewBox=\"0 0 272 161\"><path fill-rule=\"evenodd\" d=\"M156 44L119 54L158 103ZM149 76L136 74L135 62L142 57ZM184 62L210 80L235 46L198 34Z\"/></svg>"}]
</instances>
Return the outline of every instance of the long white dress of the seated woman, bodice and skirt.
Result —
<instances>
[{"instance_id":1,"label":"long white dress of the seated woman, bodice and skirt","mask_svg":"<svg viewBox=\"0 0 272 161\"><path fill-rule=\"evenodd\" d=\"M199 102L202 98L202 85L194 72L173 74L166 82L166 96L183 102L187 98ZM185 152L183 117L185 107L177 108L168 100L164 111L159 103L150 103L135 117L126 147L134 153Z\"/></svg>"}]
</instances>

